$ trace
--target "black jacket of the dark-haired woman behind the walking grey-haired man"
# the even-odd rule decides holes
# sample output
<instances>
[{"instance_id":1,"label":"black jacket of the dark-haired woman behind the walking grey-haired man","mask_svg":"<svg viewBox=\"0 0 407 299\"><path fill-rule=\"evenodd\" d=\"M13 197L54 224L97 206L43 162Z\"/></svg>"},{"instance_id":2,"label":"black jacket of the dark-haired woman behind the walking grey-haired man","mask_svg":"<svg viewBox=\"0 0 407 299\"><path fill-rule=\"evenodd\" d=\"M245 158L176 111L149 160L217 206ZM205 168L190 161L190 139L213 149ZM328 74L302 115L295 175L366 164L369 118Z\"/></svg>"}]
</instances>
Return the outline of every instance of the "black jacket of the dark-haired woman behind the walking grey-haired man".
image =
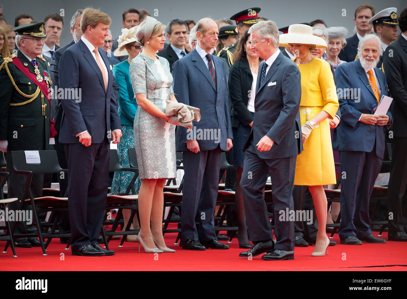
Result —
<instances>
[{"instance_id":1,"label":"black jacket of the dark-haired woman behind the walking grey-haired man","mask_svg":"<svg viewBox=\"0 0 407 299\"><path fill-rule=\"evenodd\" d=\"M247 109L249 91L253 84L253 76L247 59L232 64L228 84L232 102L232 111L230 112L232 127L237 128L240 122L247 126L253 121L252 113Z\"/></svg>"}]
</instances>

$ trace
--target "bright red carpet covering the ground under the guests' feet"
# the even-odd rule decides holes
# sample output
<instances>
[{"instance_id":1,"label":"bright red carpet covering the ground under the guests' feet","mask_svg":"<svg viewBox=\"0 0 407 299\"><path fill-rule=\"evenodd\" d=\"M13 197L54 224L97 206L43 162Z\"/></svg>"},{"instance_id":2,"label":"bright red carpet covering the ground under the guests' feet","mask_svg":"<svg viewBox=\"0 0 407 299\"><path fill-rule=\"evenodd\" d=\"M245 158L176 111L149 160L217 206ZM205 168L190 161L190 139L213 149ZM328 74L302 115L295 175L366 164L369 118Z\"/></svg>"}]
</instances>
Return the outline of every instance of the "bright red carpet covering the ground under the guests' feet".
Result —
<instances>
[{"instance_id":1,"label":"bright red carpet covering the ground under the guests' feet","mask_svg":"<svg viewBox=\"0 0 407 299\"><path fill-rule=\"evenodd\" d=\"M374 235L377 236L377 232ZM230 249L206 251L182 250L173 245L176 234L166 234L168 247L176 253L145 253L138 243L112 240L109 249L116 255L103 257L72 256L65 245L54 239L43 256L40 248L16 248L18 258L12 258L11 248L1 253L5 242L0 242L1 271L406 271L407 243L387 241L385 244L363 243L359 246L337 245L329 247L329 255L311 257L313 246L295 248L295 260L271 262L261 255L247 260L239 258L237 239L228 243ZM387 240L387 233L383 234ZM226 242L223 242L226 243Z\"/></svg>"}]
</instances>

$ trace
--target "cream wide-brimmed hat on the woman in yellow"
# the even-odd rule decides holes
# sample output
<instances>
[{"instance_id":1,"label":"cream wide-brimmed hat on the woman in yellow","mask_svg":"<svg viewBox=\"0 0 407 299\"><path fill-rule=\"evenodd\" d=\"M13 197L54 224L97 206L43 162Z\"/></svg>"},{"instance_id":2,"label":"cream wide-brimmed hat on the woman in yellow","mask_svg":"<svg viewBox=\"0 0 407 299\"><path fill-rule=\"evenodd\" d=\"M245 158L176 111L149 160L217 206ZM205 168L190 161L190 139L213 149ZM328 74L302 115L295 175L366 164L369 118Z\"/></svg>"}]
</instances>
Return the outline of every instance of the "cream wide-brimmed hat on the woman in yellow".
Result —
<instances>
[{"instance_id":1,"label":"cream wide-brimmed hat on the woman in yellow","mask_svg":"<svg viewBox=\"0 0 407 299\"><path fill-rule=\"evenodd\" d=\"M288 27L288 33L280 35L280 46L289 47L290 44L304 44L315 48L328 48L326 41L312 35L312 27L304 24L293 24Z\"/></svg>"}]
</instances>

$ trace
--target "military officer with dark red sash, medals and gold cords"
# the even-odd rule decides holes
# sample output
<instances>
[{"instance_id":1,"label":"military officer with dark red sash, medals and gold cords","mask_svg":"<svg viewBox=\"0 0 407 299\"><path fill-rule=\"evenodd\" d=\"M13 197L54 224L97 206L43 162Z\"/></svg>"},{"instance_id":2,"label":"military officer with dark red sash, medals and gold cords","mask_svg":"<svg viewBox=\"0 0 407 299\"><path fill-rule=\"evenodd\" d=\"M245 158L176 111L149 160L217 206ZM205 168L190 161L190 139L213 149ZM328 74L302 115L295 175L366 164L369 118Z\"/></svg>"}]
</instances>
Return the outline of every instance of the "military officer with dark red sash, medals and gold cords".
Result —
<instances>
[{"instance_id":1,"label":"military officer with dark red sash, medals and gold cords","mask_svg":"<svg viewBox=\"0 0 407 299\"><path fill-rule=\"evenodd\" d=\"M44 22L14 28L18 51L0 63L0 150L6 153L8 196L19 201L9 204L9 210L18 210L26 183L25 175L15 174L12 151L46 150L50 137L56 131L50 120L50 88L52 81L48 65L41 57L46 35ZM31 190L34 197L42 196L44 175L33 175ZM26 210L31 206L25 206ZM35 233L31 223L18 222L15 234ZM37 238L16 240L17 247L39 247ZM45 251L44 251L45 252Z\"/></svg>"}]
</instances>

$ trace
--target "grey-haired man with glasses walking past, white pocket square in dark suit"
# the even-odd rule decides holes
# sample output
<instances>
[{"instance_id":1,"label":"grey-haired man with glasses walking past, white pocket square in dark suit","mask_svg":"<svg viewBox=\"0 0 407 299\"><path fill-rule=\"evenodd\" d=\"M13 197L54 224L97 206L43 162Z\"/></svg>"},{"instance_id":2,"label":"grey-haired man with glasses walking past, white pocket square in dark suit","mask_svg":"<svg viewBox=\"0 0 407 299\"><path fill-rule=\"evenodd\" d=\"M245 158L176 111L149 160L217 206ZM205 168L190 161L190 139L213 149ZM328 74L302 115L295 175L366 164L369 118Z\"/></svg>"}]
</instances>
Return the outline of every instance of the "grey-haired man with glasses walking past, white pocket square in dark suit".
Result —
<instances>
[{"instance_id":1,"label":"grey-haired man with glasses walking past, white pocket square in dark suit","mask_svg":"<svg viewBox=\"0 0 407 299\"><path fill-rule=\"evenodd\" d=\"M259 65L252 132L244 146L245 162L240 186L245 205L247 233L253 247L239 254L264 260L294 259L294 223L281 213L294 209L295 162L302 151L300 101L301 75L295 63L278 49L276 24L261 21L250 33L251 48L263 58ZM263 189L268 175L273 184L274 244ZM283 218L283 219L282 219Z\"/></svg>"}]
</instances>

